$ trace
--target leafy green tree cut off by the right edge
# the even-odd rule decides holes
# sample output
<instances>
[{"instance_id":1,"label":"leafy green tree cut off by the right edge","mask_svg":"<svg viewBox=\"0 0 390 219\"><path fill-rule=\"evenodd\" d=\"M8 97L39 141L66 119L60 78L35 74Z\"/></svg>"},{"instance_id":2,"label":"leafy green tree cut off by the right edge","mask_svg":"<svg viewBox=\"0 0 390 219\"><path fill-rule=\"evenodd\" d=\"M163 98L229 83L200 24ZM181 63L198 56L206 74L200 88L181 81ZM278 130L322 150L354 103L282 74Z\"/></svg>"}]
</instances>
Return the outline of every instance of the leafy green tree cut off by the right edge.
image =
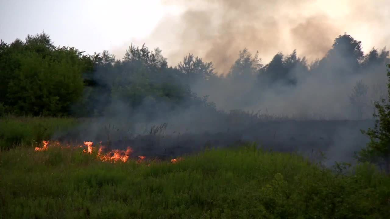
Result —
<instances>
[{"instance_id":1,"label":"leafy green tree cut off by the right edge","mask_svg":"<svg viewBox=\"0 0 390 219\"><path fill-rule=\"evenodd\" d=\"M387 65L390 68L390 65ZM388 93L390 94L390 71L388 76ZM375 102L377 118L374 128L367 131L361 130L363 134L369 136L370 141L367 147L358 152L356 158L359 162L374 162L385 167L386 173L390 173L390 104L382 99L381 103Z\"/></svg>"}]
</instances>

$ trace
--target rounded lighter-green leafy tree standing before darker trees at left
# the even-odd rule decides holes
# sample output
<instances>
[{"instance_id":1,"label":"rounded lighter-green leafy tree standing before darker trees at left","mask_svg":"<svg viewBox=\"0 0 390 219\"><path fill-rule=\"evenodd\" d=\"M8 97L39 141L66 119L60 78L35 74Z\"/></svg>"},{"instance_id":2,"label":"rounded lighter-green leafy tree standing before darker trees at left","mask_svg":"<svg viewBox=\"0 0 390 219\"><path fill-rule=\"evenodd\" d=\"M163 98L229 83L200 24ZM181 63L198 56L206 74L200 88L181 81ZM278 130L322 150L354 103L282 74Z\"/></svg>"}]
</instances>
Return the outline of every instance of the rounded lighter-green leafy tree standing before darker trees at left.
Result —
<instances>
[{"instance_id":1,"label":"rounded lighter-green leafy tree standing before darker trees at left","mask_svg":"<svg viewBox=\"0 0 390 219\"><path fill-rule=\"evenodd\" d=\"M82 68L69 58L25 55L20 55L20 68L9 82L7 104L16 114L66 115L82 95Z\"/></svg>"}]
</instances>

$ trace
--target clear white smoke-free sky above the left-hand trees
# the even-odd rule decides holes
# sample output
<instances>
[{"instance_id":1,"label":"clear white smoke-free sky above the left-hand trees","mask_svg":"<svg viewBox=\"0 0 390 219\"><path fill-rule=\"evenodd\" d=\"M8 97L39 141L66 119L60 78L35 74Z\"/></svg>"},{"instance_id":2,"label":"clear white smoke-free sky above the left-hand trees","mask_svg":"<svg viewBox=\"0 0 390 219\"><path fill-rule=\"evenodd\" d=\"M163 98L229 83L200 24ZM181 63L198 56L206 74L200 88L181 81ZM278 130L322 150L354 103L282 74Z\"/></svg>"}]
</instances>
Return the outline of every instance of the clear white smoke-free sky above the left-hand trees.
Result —
<instances>
[{"instance_id":1,"label":"clear white smoke-free sky above the left-hand trees","mask_svg":"<svg viewBox=\"0 0 390 219\"><path fill-rule=\"evenodd\" d=\"M160 0L0 0L0 39L10 43L45 31L55 45L87 53L147 36L163 16Z\"/></svg>"}]
</instances>

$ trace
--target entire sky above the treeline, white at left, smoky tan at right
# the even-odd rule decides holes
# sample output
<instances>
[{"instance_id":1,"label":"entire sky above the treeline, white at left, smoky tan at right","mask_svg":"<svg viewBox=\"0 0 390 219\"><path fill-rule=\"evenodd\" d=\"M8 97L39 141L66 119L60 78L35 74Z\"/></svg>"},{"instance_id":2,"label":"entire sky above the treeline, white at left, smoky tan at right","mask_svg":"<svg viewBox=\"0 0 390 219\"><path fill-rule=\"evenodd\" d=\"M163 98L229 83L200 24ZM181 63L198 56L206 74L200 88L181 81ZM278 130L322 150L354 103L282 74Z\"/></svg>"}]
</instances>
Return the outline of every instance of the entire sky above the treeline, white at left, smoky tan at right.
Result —
<instances>
[{"instance_id":1,"label":"entire sky above the treeline, white at left, smoky tan at right","mask_svg":"<svg viewBox=\"0 0 390 219\"><path fill-rule=\"evenodd\" d=\"M390 46L390 0L0 0L0 39L43 30L56 45L121 58L131 42L160 47L170 65L194 53L226 71L238 51L263 63L281 51L309 60L347 32L363 50Z\"/></svg>"}]
</instances>

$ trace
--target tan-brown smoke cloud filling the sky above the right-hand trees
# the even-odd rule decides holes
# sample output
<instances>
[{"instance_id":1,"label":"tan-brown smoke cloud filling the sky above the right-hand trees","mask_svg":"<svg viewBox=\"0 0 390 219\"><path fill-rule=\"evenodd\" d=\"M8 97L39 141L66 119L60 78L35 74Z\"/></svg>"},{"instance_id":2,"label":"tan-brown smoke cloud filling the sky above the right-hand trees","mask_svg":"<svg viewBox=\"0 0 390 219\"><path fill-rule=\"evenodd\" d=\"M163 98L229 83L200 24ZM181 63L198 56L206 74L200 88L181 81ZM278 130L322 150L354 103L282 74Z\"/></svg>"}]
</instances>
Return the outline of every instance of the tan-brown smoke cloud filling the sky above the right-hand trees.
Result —
<instances>
[{"instance_id":1,"label":"tan-brown smoke cloud filling the sky above the right-hand trees","mask_svg":"<svg viewBox=\"0 0 390 219\"><path fill-rule=\"evenodd\" d=\"M163 0L182 12L163 18L146 42L163 49L170 65L194 53L227 73L238 51L259 51L263 63L278 52L297 49L311 62L322 58L344 32L363 42L363 50L390 41L390 0ZM122 57L126 46L115 48Z\"/></svg>"}]
</instances>

